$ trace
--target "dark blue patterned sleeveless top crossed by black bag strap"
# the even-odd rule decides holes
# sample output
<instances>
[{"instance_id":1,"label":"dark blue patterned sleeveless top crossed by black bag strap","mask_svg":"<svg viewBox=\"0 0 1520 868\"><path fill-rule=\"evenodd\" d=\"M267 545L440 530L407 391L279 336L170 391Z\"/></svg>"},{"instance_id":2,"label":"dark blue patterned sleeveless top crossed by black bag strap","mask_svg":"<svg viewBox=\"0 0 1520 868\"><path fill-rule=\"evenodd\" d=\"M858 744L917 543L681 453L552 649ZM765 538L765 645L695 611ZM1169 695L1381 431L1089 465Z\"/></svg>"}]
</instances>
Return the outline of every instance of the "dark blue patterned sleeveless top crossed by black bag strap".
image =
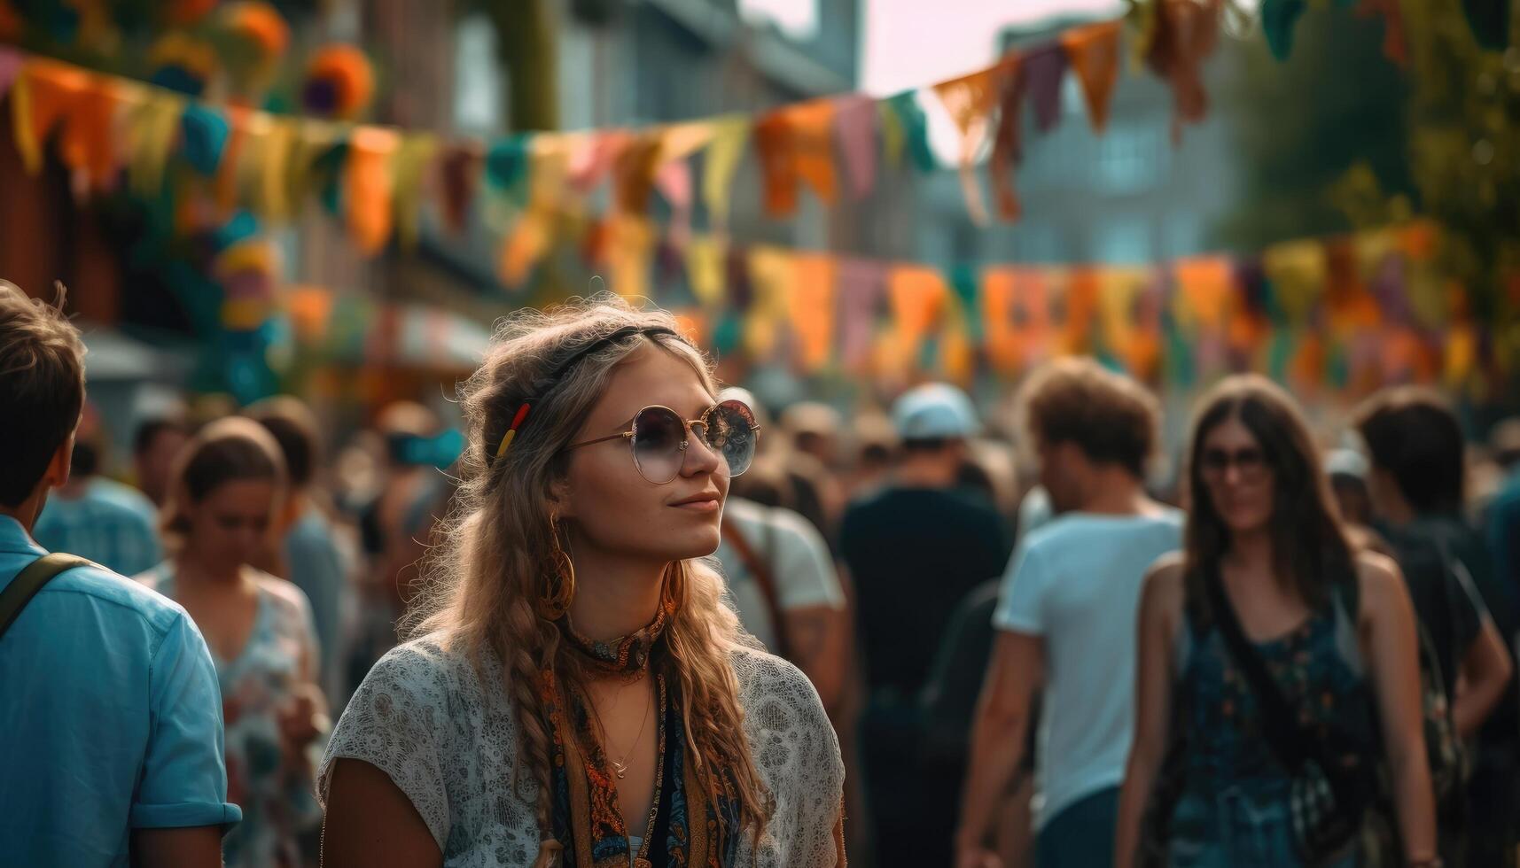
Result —
<instances>
[{"instance_id":1,"label":"dark blue patterned sleeveless top crossed by black bag strap","mask_svg":"<svg viewBox=\"0 0 1520 868\"><path fill-rule=\"evenodd\" d=\"M1335 728L1376 749L1380 740L1376 705L1357 645L1356 614L1347 610L1345 596L1348 591L1332 593L1330 602L1303 623L1256 643L1256 651L1306 727L1321 737ZM1211 623L1198 623L1192 611L1184 620L1176 648L1173 724L1187 733L1184 792L1202 794L1230 784L1278 792L1287 771L1272 754L1260 704L1224 635Z\"/></svg>"}]
</instances>

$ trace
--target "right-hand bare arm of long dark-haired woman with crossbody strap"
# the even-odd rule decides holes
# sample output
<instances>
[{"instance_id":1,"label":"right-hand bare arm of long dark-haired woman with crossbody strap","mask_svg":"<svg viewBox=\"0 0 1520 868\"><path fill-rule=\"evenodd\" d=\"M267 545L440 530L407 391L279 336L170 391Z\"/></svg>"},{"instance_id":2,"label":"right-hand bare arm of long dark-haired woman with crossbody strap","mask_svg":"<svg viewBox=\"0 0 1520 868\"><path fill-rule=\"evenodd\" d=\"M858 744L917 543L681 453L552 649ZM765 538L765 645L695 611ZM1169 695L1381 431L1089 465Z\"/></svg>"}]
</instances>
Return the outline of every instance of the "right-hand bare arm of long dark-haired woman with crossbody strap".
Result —
<instances>
[{"instance_id":1,"label":"right-hand bare arm of long dark-haired woman with crossbody strap","mask_svg":"<svg viewBox=\"0 0 1520 868\"><path fill-rule=\"evenodd\" d=\"M1411 862L1433 859L1435 794L1430 789L1420 705L1414 607L1392 561L1363 553L1359 567L1363 646L1373 667L1404 857Z\"/></svg>"}]
</instances>

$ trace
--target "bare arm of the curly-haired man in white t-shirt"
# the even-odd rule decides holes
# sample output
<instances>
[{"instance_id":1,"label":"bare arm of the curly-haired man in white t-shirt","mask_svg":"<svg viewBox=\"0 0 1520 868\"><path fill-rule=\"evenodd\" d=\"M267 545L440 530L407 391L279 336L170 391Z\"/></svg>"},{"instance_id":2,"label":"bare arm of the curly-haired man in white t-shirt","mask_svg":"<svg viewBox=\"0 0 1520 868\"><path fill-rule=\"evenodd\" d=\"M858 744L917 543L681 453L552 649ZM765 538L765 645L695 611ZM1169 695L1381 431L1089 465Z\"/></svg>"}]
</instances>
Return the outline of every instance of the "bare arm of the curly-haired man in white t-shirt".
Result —
<instances>
[{"instance_id":1,"label":"bare arm of the curly-haired man in white t-shirt","mask_svg":"<svg viewBox=\"0 0 1520 868\"><path fill-rule=\"evenodd\" d=\"M1023 632L999 632L971 727L961 828L956 832L958 865L988 863L993 818L1023 760L1031 698L1043 681L1044 640Z\"/></svg>"}]
</instances>

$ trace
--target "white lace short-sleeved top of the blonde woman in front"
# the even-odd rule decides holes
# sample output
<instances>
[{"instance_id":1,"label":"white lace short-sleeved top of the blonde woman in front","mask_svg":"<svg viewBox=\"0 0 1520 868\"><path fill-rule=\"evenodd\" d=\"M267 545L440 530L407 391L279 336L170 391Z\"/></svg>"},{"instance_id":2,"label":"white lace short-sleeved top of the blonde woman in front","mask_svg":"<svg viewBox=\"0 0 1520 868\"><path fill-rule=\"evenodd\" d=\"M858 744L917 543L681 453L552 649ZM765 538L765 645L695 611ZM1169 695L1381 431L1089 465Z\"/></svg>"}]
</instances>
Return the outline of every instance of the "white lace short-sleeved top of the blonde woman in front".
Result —
<instances>
[{"instance_id":1,"label":"white lace short-sleeved top of the blonde woman in front","mask_svg":"<svg viewBox=\"0 0 1520 868\"><path fill-rule=\"evenodd\" d=\"M733 654L755 768L775 800L758 851L746 835L742 868L828 868L844 790L839 742L812 683L790 663L751 649ZM327 804L333 760L386 772L427 822L445 868L527 866L538 854L534 784L517 765L517 719L502 664L486 654L485 681L462 651L435 637L380 658L348 702L318 771Z\"/></svg>"}]
</instances>

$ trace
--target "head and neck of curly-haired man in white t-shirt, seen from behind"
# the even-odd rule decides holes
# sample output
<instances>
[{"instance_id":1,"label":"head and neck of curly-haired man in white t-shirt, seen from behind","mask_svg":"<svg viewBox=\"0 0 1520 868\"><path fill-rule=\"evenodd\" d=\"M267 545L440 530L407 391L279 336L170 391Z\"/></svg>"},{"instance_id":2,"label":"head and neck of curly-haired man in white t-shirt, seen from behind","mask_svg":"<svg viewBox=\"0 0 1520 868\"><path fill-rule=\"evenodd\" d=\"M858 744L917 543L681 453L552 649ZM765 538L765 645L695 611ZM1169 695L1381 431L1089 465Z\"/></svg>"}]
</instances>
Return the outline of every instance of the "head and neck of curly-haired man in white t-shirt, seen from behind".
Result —
<instances>
[{"instance_id":1,"label":"head and neck of curly-haired man in white t-shirt, seen from behind","mask_svg":"<svg viewBox=\"0 0 1520 868\"><path fill-rule=\"evenodd\" d=\"M1024 438L1040 450L1041 483L1058 511L1078 509L1093 494L1094 468L1142 483L1160 417L1145 386L1091 359L1044 365L1018 394Z\"/></svg>"}]
</instances>

